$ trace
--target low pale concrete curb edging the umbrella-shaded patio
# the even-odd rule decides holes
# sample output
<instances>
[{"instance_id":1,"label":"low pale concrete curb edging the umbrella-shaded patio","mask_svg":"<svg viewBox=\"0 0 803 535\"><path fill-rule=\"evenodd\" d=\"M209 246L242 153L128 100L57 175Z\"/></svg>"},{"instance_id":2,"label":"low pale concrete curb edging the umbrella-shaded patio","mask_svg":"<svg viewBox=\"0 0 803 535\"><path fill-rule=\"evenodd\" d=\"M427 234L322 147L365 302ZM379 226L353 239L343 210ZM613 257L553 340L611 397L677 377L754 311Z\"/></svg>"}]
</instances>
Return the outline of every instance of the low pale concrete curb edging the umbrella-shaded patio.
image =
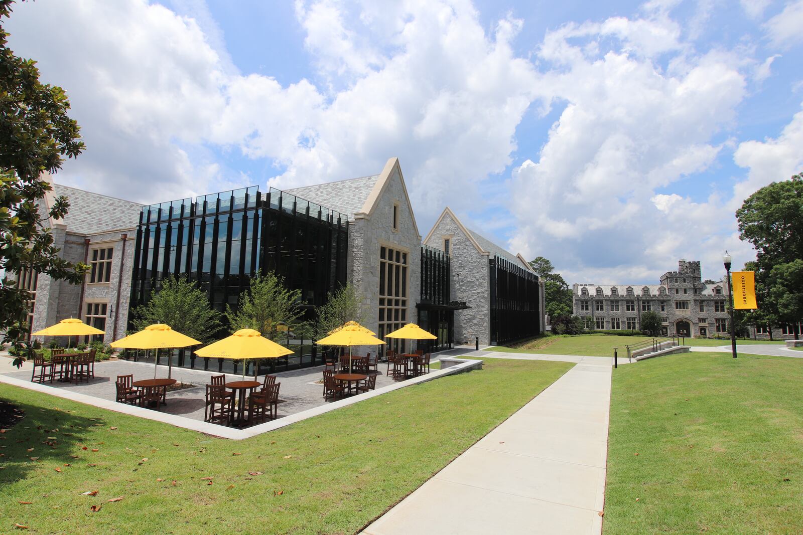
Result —
<instances>
[{"instance_id":1,"label":"low pale concrete curb edging the umbrella-shaded patio","mask_svg":"<svg viewBox=\"0 0 803 535\"><path fill-rule=\"evenodd\" d=\"M364 394L353 395L345 399L338 399L337 401L328 403L326 405L321 405L320 407L309 409L308 411L296 412L296 414L288 415L280 419L275 419L271 422L266 422L264 424L255 425L254 427L247 429L226 428L218 424L199 422L196 419L185 418L184 416L165 414L164 412L153 411L151 409L147 409L144 407L136 407L133 405L126 405L124 403L117 403L116 401L96 398L92 395L79 394L77 392L71 392L63 390L61 388L51 387L42 383L31 383L30 381L23 381L22 379L15 379L13 377L8 377L2 374L0 374L0 383L6 383L13 385L14 387L22 387L28 390L42 392L43 394L53 395L58 398L70 399L71 401L76 401L78 403L85 403L87 405L92 405L92 407L100 407L108 409L109 411L115 411L115 412L120 412L122 414L139 416L140 418L145 418L145 419L151 419L153 421L161 422L163 424L174 425L177 428L190 429L192 431L198 431L206 433L207 435L218 436L224 439L243 440L251 438L251 436L257 436L265 432L273 431L274 429L283 428L286 425L295 424L296 422L300 422L301 420L312 418L312 416L325 414L326 412L329 411L335 411L340 407L348 407L349 405L353 405L354 403L365 401L365 399L371 399L373 397L376 397L377 395L385 394L386 392L398 390L399 388L410 387L414 384L426 383L427 381L438 379L440 377L445 377L446 375L454 375L461 373L463 371L471 371L476 367L482 366L481 360L476 360L476 359L453 359L453 360L459 360L460 362L455 364L454 366L447 367L446 369L443 370L433 370L429 374L421 375L420 377L414 377L413 379L400 381L399 383L391 384L387 387L382 387L374 391L365 392Z\"/></svg>"}]
</instances>

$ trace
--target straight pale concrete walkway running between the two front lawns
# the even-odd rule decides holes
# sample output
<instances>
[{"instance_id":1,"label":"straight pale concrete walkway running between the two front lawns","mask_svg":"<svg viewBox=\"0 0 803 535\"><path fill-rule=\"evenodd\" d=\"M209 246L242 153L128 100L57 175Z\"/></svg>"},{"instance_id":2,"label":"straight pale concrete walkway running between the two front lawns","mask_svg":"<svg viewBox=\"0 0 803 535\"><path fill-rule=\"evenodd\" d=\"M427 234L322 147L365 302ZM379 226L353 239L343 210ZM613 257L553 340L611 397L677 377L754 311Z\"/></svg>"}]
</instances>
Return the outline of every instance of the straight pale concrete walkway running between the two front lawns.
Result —
<instances>
[{"instance_id":1,"label":"straight pale concrete walkway running between the two front lawns","mask_svg":"<svg viewBox=\"0 0 803 535\"><path fill-rule=\"evenodd\" d=\"M601 533L610 359L498 356L579 363L363 533Z\"/></svg>"}]
</instances>

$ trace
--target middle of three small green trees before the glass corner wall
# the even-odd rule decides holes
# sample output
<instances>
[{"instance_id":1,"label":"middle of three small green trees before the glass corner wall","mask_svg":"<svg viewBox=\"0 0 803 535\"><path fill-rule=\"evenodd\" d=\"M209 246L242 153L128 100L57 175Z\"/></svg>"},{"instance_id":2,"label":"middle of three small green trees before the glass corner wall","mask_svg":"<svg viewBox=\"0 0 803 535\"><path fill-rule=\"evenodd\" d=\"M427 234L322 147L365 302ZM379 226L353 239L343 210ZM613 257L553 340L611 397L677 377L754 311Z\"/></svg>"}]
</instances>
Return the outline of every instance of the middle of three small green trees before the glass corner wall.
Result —
<instances>
[{"instance_id":1,"label":"middle of three small green trees before the glass corner wall","mask_svg":"<svg viewBox=\"0 0 803 535\"><path fill-rule=\"evenodd\" d=\"M301 319L304 309L300 302L301 290L287 290L284 279L269 271L251 278L236 311L226 305L226 318L232 332L255 329L274 342L287 338L288 331L304 338L308 325Z\"/></svg>"}]
</instances>

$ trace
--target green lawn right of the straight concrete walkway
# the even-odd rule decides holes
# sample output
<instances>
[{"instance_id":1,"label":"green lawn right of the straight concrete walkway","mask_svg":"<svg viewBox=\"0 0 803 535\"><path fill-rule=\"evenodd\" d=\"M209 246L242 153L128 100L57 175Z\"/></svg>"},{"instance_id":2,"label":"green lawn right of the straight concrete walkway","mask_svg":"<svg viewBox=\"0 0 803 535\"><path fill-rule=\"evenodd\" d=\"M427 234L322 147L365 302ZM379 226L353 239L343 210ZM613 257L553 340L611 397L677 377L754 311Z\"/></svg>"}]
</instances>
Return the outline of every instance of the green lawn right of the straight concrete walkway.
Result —
<instances>
[{"instance_id":1,"label":"green lawn right of the straight concrete walkway","mask_svg":"<svg viewBox=\"0 0 803 535\"><path fill-rule=\"evenodd\" d=\"M613 373L604 533L803 532L803 362L690 353Z\"/></svg>"}]
</instances>

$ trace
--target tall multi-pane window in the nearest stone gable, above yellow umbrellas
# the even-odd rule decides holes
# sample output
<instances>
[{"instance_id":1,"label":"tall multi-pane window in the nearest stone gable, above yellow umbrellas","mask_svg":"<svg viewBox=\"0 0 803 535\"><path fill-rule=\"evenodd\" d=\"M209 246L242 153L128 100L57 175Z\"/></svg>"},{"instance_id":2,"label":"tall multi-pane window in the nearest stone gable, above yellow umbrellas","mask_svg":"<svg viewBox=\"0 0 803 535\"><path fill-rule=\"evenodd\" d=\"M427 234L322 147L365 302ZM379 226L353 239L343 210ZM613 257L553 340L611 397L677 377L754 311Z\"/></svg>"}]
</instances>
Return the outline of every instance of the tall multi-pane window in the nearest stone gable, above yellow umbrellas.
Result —
<instances>
[{"instance_id":1,"label":"tall multi-pane window in the nearest stone gable, above yellow umbrellas","mask_svg":"<svg viewBox=\"0 0 803 535\"><path fill-rule=\"evenodd\" d=\"M407 262L403 251L379 250L379 338L401 329L407 322ZM399 351L402 342L388 342L388 349Z\"/></svg>"}]
</instances>

